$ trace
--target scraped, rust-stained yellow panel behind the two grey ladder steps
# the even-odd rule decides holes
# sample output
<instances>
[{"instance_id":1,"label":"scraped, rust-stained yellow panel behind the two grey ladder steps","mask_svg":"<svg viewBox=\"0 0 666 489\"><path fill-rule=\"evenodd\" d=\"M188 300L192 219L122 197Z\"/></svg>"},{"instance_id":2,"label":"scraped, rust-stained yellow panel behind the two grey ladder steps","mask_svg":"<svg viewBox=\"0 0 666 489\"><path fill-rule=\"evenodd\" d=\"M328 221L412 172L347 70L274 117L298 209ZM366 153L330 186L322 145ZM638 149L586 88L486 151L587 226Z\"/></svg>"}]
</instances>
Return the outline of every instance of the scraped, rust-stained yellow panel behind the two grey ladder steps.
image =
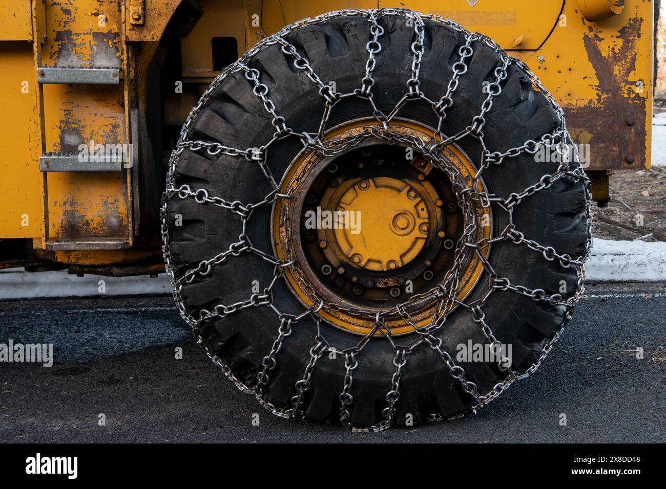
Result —
<instances>
[{"instance_id":1,"label":"scraped, rust-stained yellow panel behind the two grey ladder steps","mask_svg":"<svg viewBox=\"0 0 666 489\"><path fill-rule=\"evenodd\" d=\"M122 7L119 0L47 2L42 64L122 68ZM123 84L47 84L43 100L47 152L77 153L82 144L129 143ZM49 242L111 238L129 243L127 170L49 173L47 181Z\"/></svg>"}]
</instances>

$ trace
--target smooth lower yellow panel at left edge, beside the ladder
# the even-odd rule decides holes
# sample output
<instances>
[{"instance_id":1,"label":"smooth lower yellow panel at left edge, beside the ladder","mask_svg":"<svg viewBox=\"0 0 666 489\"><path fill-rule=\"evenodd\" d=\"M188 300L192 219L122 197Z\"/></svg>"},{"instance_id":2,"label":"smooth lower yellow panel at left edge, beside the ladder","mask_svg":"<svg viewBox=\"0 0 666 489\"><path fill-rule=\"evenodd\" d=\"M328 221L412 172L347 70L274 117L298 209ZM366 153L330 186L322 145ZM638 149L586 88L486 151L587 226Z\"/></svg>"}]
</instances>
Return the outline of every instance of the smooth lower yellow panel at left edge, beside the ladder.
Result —
<instances>
[{"instance_id":1,"label":"smooth lower yellow panel at left edge, beside the ladder","mask_svg":"<svg viewBox=\"0 0 666 489\"><path fill-rule=\"evenodd\" d=\"M41 236L41 173L33 47L0 43L0 238Z\"/></svg>"}]
</instances>

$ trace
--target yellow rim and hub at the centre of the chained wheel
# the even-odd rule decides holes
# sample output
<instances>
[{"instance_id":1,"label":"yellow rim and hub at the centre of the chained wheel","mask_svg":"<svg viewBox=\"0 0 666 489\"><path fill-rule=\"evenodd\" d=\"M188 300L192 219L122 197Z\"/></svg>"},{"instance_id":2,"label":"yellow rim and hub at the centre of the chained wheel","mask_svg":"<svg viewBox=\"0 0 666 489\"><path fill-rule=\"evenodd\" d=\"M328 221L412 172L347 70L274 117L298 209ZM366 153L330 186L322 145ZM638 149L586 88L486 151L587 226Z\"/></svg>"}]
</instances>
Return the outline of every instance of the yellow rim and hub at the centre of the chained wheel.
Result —
<instances>
[{"instance_id":1,"label":"yellow rim and hub at the centre of the chained wheel","mask_svg":"<svg viewBox=\"0 0 666 489\"><path fill-rule=\"evenodd\" d=\"M360 127L328 138L353 137ZM392 128L428 138L421 128L395 122ZM369 140L334 157L302 154L280 183L290 196L273 210L276 253L291 263L284 277L304 305L321 305L322 318L342 329L368 333L378 312L398 311L413 296L432 296L454 266L464 267L456 299L480 276L475 253L466 263L455 260L467 223L451 181L420 153L406 158L408 149ZM471 180L476 170L464 154L444 152ZM476 212L479 220L482 212ZM490 236L490 228L478 229L478 239ZM410 311L414 324L432 321L432 303ZM394 334L414 330L398 313L383 323Z\"/></svg>"}]
</instances>

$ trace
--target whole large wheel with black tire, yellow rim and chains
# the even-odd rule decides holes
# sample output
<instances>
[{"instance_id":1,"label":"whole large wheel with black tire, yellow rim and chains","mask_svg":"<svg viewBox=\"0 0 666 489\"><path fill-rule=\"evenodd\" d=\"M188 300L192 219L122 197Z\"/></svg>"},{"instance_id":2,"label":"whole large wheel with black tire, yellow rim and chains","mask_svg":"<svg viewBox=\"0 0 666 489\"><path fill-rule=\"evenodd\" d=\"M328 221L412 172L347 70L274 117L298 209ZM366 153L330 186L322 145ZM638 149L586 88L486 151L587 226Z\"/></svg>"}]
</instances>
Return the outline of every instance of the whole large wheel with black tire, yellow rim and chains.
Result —
<instances>
[{"instance_id":1,"label":"whole large wheel with black tire, yellow rim and chains","mask_svg":"<svg viewBox=\"0 0 666 489\"><path fill-rule=\"evenodd\" d=\"M476 412L535 371L583 291L570 143L537 77L452 21L288 26L212 82L172 153L178 307L274 414L380 430Z\"/></svg>"}]
</instances>

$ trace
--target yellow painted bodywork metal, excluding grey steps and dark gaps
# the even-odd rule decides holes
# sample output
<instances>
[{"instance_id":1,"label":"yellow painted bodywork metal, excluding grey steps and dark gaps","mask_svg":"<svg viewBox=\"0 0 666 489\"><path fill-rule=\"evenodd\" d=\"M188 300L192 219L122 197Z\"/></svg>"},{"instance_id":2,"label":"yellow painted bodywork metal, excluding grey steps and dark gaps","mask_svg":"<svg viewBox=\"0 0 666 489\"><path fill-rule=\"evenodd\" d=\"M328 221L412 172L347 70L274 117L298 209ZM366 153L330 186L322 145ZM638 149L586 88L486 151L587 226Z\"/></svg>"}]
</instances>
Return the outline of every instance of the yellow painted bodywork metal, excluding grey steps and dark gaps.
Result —
<instances>
[{"instance_id":1,"label":"yellow painted bodywork metal, excluding grey steps and dark gaps","mask_svg":"<svg viewBox=\"0 0 666 489\"><path fill-rule=\"evenodd\" d=\"M43 249L54 240L86 247L92 246L86 240L113 238L109 247L132 245L129 170L41 174L38 167L43 152L68 150L91 138L131 142L127 75L137 82L139 100L145 100L151 91L145 68L180 0L144 0L143 25L131 23L131 1L5 1L0 12L0 238L34 238ZM438 13L496 39L531 67L565 108L574 141L589 144L587 170L648 168L653 3L626 0L618 13L619 3L611 1L617 15L587 20L598 14L586 9L601 5L597 8L603 10L604 3L609 5L605 0L201 0L203 15L182 39L182 75L217 75L208 52L212 37L236 37L242 55L286 23L334 9L405 7ZM137 50L132 66L127 43ZM123 80L118 86L39 86L36 67L41 65L116 66ZM192 100L183 100L183 109L169 112L168 122L182 122L191 105ZM75 259L79 251L59 253ZM108 258L103 255L101 262Z\"/></svg>"}]
</instances>

